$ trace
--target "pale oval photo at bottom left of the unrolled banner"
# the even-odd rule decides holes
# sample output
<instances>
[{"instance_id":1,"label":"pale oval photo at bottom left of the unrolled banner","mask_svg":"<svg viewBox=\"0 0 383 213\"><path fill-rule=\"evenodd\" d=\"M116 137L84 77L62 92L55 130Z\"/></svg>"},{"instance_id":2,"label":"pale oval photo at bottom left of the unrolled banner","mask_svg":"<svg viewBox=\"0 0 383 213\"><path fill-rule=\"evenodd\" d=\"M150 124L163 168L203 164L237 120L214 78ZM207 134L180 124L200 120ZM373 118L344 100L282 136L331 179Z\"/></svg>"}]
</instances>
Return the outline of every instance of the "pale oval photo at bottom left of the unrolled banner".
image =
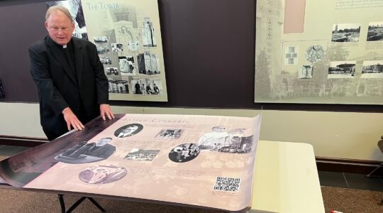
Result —
<instances>
[{"instance_id":1,"label":"pale oval photo at bottom left of the unrolled banner","mask_svg":"<svg viewBox=\"0 0 383 213\"><path fill-rule=\"evenodd\" d=\"M126 173L126 168L116 165L96 165L79 173L79 180L90 184L104 184L120 180Z\"/></svg>"}]
</instances>

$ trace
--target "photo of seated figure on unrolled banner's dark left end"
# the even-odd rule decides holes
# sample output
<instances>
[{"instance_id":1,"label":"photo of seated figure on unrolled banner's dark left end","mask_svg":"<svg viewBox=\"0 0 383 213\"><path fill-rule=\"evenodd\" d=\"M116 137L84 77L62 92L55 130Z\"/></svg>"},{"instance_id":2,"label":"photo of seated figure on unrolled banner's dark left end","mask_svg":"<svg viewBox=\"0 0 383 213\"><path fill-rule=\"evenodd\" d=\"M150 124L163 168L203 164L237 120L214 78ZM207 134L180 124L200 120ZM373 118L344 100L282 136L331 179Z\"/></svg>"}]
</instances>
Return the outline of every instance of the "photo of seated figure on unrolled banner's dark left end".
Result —
<instances>
[{"instance_id":1,"label":"photo of seated figure on unrolled banner's dark left end","mask_svg":"<svg viewBox=\"0 0 383 213\"><path fill-rule=\"evenodd\" d=\"M113 155L116 147L109 144L112 138L101 138L99 141L87 143L82 141L76 146L55 156L62 163L80 164L105 160Z\"/></svg>"}]
</instances>

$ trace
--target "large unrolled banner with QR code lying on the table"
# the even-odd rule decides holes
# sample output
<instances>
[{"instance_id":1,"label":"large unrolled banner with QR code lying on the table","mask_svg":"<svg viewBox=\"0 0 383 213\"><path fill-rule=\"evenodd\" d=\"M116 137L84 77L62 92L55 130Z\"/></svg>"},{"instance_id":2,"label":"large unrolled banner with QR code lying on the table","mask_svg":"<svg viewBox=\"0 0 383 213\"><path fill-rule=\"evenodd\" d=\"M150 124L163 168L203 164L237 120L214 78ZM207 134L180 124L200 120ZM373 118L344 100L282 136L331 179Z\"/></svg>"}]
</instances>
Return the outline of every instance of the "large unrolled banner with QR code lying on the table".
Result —
<instances>
[{"instance_id":1,"label":"large unrolled banner with QR code lying on the table","mask_svg":"<svg viewBox=\"0 0 383 213\"><path fill-rule=\"evenodd\" d=\"M117 114L0 162L16 187L239 211L261 116ZM256 189L255 189L256 190Z\"/></svg>"}]
</instances>

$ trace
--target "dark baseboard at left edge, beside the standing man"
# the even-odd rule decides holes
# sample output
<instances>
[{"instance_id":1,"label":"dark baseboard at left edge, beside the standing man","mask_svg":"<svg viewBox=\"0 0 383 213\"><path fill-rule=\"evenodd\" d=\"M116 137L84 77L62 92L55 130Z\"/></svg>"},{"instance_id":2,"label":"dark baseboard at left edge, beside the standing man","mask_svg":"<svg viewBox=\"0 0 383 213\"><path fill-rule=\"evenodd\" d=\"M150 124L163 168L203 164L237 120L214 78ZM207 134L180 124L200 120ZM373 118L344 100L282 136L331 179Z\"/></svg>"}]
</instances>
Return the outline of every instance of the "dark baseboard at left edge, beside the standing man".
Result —
<instances>
[{"instance_id":1,"label":"dark baseboard at left edge, beside the standing man","mask_svg":"<svg viewBox=\"0 0 383 213\"><path fill-rule=\"evenodd\" d=\"M6 146L26 146L35 147L49 142L47 138L33 138L21 136L2 136L0 135L0 145Z\"/></svg>"}]
</instances>

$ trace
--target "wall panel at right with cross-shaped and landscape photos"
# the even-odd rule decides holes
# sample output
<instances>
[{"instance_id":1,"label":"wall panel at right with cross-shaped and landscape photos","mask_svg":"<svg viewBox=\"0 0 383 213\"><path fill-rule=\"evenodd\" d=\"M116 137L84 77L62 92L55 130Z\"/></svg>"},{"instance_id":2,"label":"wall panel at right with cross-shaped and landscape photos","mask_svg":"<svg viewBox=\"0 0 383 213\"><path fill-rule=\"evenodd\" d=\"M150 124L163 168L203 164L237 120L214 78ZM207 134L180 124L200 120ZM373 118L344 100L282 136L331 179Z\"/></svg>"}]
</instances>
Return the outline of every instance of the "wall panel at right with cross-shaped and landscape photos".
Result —
<instances>
[{"instance_id":1,"label":"wall panel at right with cross-shaped and landscape photos","mask_svg":"<svg viewBox=\"0 0 383 213\"><path fill-rule=\"evenodd\" d=\"M383 0L259 0L255 102L383 104Z\"/></svg>"}]
</instances>

